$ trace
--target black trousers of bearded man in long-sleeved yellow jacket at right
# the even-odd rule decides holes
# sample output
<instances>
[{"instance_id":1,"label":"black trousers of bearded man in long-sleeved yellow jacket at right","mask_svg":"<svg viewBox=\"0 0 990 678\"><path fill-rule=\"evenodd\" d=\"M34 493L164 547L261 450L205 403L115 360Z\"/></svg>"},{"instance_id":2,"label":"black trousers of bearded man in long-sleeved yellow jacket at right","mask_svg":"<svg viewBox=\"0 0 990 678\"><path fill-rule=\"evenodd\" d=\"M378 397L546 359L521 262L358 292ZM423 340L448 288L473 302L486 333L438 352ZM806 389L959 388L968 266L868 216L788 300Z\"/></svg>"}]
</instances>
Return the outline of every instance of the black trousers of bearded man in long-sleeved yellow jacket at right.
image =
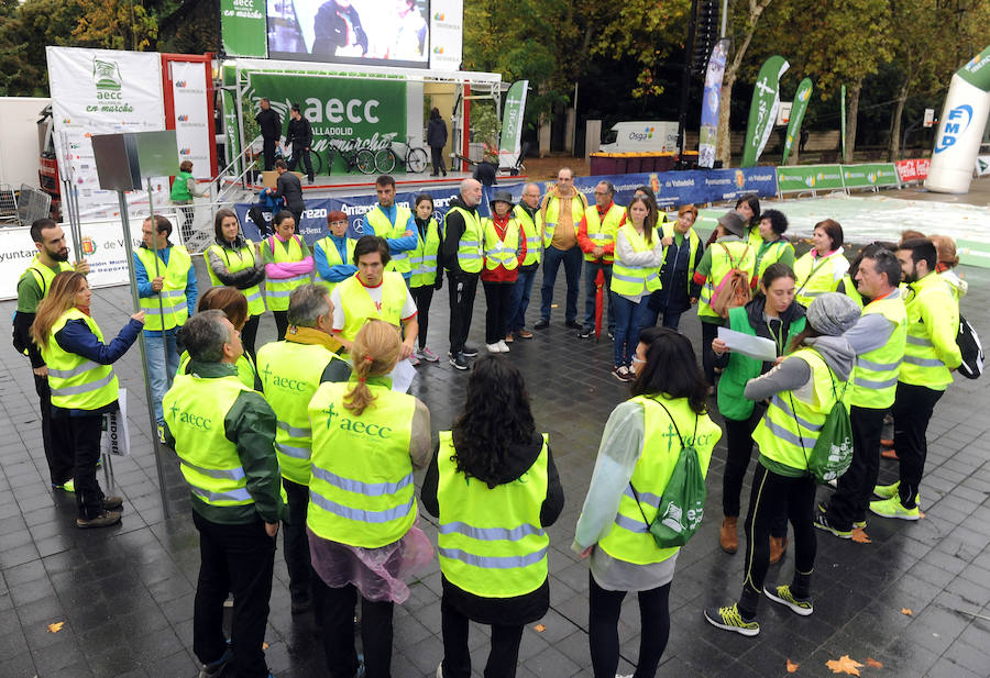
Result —
<instances>
[{"instance_id":1,"label":"black trousers of bearded man in long-sleeved yellow jacket at right","mask_svg":"<svg viewBox=\"0 0 990 678\"><path fill-rule=\"evenodd\" d=\"M894 400L894 449L901 459L901 504L913 509L914 498L925 473L925 457L928 443L925 434L935 404L945 391L936 391L924 386L912 386L898 381Z\"/></svg>"}]
</instances>

